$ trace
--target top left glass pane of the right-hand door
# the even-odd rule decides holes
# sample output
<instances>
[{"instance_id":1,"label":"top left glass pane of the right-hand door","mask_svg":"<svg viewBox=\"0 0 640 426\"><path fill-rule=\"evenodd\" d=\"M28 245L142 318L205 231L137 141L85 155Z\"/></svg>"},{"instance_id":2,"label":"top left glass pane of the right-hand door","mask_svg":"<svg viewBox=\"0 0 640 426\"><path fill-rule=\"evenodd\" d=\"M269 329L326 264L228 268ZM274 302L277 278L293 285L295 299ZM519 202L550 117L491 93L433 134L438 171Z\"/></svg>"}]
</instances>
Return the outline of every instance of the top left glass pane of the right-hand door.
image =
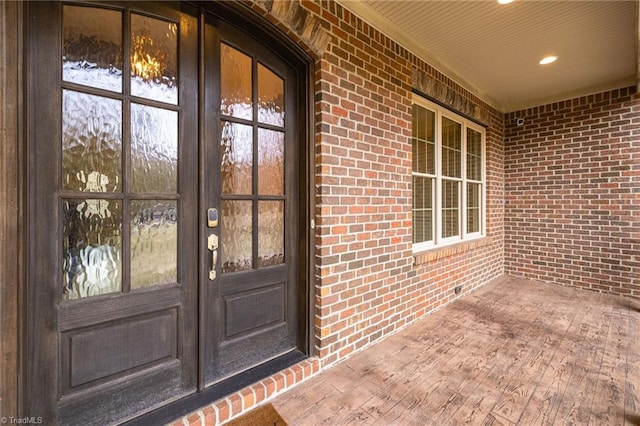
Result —
<instances>
[{"instance_id":1,"label":"top left glass pane of the right-hand door","mask_svg":"<svg viewBox=\"0 0 640 426\"><path fill-rule=\"evenodd\" d=\"M253 119L251 58L224 43L220 46L220 112L231 117Z\"/></svg>"}]
</instances>

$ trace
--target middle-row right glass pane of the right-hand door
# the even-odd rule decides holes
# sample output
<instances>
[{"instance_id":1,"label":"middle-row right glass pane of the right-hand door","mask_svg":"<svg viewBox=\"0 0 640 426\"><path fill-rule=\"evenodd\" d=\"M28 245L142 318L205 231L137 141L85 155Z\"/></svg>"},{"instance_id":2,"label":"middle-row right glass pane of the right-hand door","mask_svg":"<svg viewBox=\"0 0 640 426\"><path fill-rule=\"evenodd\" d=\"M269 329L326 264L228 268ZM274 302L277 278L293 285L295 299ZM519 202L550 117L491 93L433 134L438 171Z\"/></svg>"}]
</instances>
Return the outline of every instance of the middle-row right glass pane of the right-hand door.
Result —
<instances>
[{"instance_id":1,"label":"middle-row right glass pane of the right-hand door","mask_svg":"<svg viewBox=\"0 0 640 426\"><path fill-rule=\"evenodd\" d=\"M284 133L258 129L258 193L284 194Z\"/></svg>"}]
</instances>

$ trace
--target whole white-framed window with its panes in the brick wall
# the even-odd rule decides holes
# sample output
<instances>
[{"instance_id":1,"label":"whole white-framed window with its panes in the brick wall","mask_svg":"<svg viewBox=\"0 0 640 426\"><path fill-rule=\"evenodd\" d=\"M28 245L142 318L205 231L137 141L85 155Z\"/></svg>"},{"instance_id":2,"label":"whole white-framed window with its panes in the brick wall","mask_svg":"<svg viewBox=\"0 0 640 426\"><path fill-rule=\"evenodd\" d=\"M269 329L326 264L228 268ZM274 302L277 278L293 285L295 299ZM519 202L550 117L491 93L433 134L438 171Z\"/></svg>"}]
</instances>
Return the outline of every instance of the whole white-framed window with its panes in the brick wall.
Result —
<instances>
[{"instance_id":1,"label":"whole white-framed window with its panes in the brick wall","mask_svg":"<svg viewBox=\"0 0 640 426\"><path fill-rule=\"evenodd\" d=\"M484 235L485 131L413 99L413 251Z\"/></svg>"}]
</instances>

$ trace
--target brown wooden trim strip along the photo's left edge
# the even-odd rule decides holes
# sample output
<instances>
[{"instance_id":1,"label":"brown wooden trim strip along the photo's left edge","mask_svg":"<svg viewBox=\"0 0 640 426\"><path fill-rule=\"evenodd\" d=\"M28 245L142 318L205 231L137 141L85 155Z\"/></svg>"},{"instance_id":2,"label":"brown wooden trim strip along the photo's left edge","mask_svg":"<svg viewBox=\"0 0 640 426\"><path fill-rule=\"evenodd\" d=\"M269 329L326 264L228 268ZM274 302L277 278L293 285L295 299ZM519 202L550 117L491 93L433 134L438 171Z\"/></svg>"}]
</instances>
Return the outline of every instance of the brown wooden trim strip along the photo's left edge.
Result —
<instances>
[{"instance_id":1,"label":"brown wooden trim strip along the photo's left edge","mask_svg":"<svg viewBox=\"0 0 640 426\"><path fill-rule=\"evenodd\" d=\"M24 410L21 350L25 289L24 4L0 2L0 413Z\"/></svg>"}]
</instances>

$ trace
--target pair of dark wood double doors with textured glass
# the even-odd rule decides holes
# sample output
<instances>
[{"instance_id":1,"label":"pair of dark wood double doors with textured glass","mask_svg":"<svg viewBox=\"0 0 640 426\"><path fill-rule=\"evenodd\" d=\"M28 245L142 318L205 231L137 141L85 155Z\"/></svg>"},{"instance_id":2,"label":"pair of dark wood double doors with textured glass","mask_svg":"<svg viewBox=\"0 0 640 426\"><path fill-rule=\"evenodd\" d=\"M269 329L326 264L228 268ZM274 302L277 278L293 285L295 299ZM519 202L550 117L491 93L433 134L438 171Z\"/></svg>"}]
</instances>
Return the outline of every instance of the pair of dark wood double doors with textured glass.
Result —
<instances>
[{"instance_id":1,"label":"pair of dark wood double doors with textured glass","mask_svg":"<svg viewBox=\"0 0 640 426\"><path fill-rule=\"evenodd\" d=\"M29 17L29 412L118 423L304 351L296 68L179 3Z\"/></svg>"}]
</instances>

